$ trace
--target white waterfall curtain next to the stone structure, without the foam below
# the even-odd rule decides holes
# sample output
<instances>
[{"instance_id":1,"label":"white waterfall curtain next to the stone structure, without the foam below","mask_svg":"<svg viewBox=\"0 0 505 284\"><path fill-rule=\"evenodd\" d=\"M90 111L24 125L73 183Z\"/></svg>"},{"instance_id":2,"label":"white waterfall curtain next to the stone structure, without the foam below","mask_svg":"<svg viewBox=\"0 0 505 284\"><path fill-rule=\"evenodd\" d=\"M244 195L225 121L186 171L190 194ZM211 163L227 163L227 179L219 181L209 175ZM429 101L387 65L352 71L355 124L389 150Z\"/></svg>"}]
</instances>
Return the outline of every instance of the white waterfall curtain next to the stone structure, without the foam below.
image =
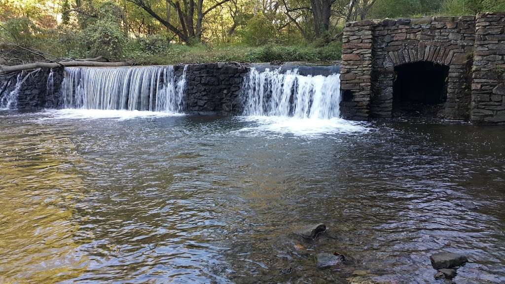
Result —
<instances>
[{"instance_id":1,"label":"white waterfall curtain next to the stone structure, without the foam below","mask_svg":"<svg viewBox=\"0 0 505 284\"><path fill-rule=\"evenodd\" d=\"M303 76L298 70L259 72L243 83L244 115L329 119L339 117L340 75Z\"/></svg>"}]
</instances>

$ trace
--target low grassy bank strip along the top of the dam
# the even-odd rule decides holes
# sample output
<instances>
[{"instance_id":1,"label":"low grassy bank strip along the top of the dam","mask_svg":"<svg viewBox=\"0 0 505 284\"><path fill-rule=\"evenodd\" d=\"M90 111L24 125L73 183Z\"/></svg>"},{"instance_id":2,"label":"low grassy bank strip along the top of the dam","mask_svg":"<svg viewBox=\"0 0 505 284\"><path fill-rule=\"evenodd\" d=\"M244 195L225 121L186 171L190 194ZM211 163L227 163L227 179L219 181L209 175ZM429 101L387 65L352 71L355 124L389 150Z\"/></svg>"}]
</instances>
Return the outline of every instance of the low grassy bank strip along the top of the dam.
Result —
<instances>
[{"instance_id":1,"label":"low grassy bank strip along the top of the dam","mask_svg":"<svg viewBox=\"0 0 505 284\"><path fill-rule=\"evenodd\" d=\"M263 46L132 45L126 49L119 59L114 61L127 61L132 62L134 65L175 65L230 61L240 63L303 61L314 65L327 65L322 63L340 60L341 46L340 41L325 46L312 44L266 44ZM43 58L27 52L2 49L1 45L0 50L2 50L0 65L16 65L21 63L20 60L24 63L43 60ZM63 58L72 57L71 54L56 55Z\"/></svg>"}]
</instances>

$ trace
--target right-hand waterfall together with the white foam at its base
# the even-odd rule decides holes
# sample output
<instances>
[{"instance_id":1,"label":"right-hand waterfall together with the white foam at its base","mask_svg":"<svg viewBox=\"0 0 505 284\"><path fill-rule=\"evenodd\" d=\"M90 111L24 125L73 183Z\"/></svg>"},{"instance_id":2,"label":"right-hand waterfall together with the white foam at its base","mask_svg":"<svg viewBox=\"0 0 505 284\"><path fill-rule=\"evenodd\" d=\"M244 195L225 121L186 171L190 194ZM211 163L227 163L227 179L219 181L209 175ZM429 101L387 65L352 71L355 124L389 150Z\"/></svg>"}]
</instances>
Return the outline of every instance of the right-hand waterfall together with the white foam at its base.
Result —
<instances>
[{"instance_id":1,"label":"right-hand waterfall together with the white foam at its base","mask_svg":"<svg viewBox=\"0 0 505 284\"><path fill-rule=\"evenodd\" d=\"M366 132L365 123L340 118L340 75L304 76L297 70L281 73L251 69L243 83L244 115L254 127L239 131L318 136L330 133Z\"/></svg>"}]
</instances>

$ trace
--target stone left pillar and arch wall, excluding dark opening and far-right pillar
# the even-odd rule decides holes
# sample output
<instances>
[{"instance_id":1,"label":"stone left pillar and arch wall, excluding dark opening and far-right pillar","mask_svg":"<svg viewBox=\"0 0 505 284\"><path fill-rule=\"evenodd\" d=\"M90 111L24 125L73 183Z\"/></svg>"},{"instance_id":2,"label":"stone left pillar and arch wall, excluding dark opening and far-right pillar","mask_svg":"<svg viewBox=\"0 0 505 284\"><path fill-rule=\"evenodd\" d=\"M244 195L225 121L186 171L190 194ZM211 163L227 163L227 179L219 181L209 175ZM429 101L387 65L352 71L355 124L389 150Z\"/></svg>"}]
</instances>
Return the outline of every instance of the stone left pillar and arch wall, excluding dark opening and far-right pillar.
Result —
<instances>
[{"instance_id":1,"label":"stone left pillar and arch wall, excluding dark opening and far-right pillar","mask_svg":"<svg viewBox=\"0 0 505 284\"><path fill-rule=\"evenodd\" d=\"M438 76L447 78L441 117L468 118L475 26L474 16L346 23L341 89L349 91L352 100L342 103L342 115L352 119L392 117L397 70L419 63L421 69L427 69L426 64L448 67Z\"/></svg>"}]
</instances>

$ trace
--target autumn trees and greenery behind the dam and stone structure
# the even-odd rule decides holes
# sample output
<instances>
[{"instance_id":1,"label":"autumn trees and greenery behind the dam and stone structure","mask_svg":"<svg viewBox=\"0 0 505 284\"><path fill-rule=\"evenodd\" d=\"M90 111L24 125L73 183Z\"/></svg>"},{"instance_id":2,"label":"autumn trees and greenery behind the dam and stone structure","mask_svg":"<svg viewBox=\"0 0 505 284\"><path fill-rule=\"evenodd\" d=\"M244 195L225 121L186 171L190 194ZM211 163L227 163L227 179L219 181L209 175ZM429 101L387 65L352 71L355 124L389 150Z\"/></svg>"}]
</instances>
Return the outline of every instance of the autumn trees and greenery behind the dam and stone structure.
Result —
<instances>
[{"instance_id":1,"label":"autumn trees and greenery behind the dam and stone structure","mask_svg":"<svg viewBox=\"0 0 505 284\"><path fill-rule=\"evenodd\" d=\"M0 0L0 64L339 60L347 21L505 11L503 0Z\"/></svg>"}]
</instances>

